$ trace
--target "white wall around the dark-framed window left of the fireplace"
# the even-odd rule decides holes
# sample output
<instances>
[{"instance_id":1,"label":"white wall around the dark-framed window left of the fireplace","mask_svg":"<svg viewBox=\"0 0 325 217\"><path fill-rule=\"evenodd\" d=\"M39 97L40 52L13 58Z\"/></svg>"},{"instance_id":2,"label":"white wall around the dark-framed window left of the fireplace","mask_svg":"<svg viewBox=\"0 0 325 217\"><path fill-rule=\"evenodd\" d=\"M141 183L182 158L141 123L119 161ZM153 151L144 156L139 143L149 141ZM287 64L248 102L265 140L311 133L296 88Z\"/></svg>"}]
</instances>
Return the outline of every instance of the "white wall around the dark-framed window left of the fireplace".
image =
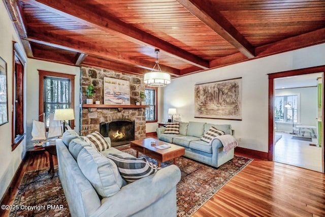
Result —
<instances>
[{"instance_id":1,"label":"white wall around the dark-framed window left of the fireplace","mask_svg":"<svg viewBox=\"0 0 325 217\"><path fill-rule=\"evenodd\" d=\"M80 120L80 68L67 66L63 64L50 63L37 59L28 58L27 63L27 146L32 146L31 126L32 120L38 119L39 114L39 71L45 70L50 72L66 73L75 76L75 131L79 132Z\"/></svg>"}]
</instances>

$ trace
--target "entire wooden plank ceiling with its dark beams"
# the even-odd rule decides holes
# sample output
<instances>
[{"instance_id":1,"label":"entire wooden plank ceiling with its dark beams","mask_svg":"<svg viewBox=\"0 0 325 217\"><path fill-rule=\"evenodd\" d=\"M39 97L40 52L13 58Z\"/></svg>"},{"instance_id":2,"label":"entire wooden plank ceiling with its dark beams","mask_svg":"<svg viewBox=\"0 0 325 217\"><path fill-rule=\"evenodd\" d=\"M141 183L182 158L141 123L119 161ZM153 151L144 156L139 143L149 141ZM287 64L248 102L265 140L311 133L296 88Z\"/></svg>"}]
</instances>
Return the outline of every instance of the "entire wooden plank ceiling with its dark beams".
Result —
<instances>
[{"instance_id":1,"label":"entire wooden plank ceiling with its dark beams","mask_svg":"<svg viewBox=\"0 0 325 217\"><path fill-rule=\"evenodd\" d=\"M182 76L325 42L325 1L4 0L28 57Z\"/></svg>"}]
</instances>

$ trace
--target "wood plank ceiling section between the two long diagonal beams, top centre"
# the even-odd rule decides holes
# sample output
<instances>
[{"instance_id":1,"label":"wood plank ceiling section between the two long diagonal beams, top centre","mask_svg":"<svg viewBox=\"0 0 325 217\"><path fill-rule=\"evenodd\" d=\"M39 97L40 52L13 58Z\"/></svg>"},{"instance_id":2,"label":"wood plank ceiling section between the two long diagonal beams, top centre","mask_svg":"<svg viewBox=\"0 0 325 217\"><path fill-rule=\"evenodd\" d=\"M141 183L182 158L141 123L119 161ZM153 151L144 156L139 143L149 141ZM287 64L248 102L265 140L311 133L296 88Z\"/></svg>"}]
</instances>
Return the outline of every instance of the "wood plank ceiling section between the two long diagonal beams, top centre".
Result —
<instances>
[{"instance_id":1,"label":"wood plank ceiling section between the two long diagonal beams, top centre","mask_svg":"<svg viewBox=\"0 0 325 217\"><path fill-rule=\"evenodd\" d=\"M87 4L88 1L84 1ZM93 3L96 4L93 4ZM89 7L103 9L125 23L211 60L238 51L176 1L92 1ZM221 44L221 46L220 46Z\"/></svg>"}]
</instances>

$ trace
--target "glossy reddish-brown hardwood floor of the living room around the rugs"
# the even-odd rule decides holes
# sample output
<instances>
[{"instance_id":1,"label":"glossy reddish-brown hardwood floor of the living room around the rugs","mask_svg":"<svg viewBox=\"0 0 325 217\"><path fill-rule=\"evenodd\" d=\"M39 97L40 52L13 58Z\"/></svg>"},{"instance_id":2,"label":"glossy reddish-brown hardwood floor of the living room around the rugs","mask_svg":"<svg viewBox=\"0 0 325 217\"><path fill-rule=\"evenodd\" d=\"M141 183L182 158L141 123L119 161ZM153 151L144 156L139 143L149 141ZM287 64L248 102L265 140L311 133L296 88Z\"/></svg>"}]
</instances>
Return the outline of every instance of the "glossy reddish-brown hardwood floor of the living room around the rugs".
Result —
<instances>
[{"instance_id":1,"label":"glossy reddish-brown hardwood floor of the living room around the rugs","mask_svg":"<svg viewBox=\"0 0 325 217\"><path fill-rule=\"evenodd\" d=\"M24 171L48 167L46 162L38 155L30 166L27 158L3 204L13 202ZM325 174L254 159L193 216L325 216Z\"/></svg>"}]
</instances>

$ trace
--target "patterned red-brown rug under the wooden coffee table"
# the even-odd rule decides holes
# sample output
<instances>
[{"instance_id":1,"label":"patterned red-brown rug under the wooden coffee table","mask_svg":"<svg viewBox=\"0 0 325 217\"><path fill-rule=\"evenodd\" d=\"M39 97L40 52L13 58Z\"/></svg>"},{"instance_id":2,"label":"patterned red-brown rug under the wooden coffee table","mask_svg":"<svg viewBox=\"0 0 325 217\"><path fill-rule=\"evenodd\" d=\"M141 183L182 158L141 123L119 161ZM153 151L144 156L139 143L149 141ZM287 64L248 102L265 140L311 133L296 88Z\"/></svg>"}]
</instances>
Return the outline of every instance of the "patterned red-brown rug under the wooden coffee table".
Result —
<instances>
[{"instance_id":1,"label":"patterned red-brown rug under the wooden coffee table","mask_svg":"<svg viewBox=\"0 0 325 217\"><path fill-rule=\"evenodd\" d=\"M134 149L122 151L136 156ZM140 157L145 157L151 163L157 163L156 160L139 152ZM215 169L184 157L178 158L176 165L181 171L181 180L176 187L177 216L191 216L194 214L252 161L253 159L235 155L233 160ZM172 162L161 163L161 167L166 167Z\"/></svg>"}]
</instances>

